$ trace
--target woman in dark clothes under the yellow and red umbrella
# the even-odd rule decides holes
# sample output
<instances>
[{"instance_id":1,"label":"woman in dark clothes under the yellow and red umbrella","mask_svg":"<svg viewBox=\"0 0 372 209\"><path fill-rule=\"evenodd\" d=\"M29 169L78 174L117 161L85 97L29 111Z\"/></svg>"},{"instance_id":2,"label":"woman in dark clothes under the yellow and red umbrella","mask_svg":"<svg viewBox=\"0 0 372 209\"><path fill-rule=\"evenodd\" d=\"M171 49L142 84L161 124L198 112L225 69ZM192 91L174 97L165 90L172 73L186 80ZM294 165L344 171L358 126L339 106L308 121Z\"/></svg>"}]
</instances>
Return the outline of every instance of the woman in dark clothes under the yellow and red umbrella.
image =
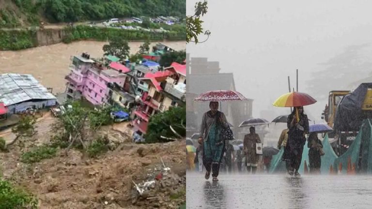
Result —
<instances>
[{"instance_id":1,"label":"woman in dark clothes under the yellow and red umbrella","mask_svg":"<svg viewBox=\"0 0 372 209\"><path fill-rule=\"evenodd\" d=\"M298 114L296 114L296 111ZM289 175L300 176L298 169L302 160L302 152L306 143L305 134L309 133L308 116L304 114L303 106L295 107L288 116L288 141L282 157L283 161L290 161Z\"/></svg>"}]
</instances>

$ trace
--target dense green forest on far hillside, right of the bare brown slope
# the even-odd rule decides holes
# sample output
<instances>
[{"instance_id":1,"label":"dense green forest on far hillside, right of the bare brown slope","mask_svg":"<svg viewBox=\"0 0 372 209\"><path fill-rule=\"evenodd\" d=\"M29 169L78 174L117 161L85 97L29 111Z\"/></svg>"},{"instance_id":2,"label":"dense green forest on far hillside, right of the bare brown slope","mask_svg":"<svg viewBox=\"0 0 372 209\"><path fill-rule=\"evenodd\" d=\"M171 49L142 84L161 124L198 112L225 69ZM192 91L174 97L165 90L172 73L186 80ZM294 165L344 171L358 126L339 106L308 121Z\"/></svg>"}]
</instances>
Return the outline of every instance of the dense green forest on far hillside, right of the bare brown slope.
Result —
<instances>
[{"instance_id":1,"label":"dense green forest on far hillside, right of the bare brown slope","mask_svg":"<svg viewBox=\"0 0 372 209\"><path fill-rule=\"evenodd\" d=\"M37 6L51 22L186 15L185 0L38 0Z\"/></svg>"}]
</instances>

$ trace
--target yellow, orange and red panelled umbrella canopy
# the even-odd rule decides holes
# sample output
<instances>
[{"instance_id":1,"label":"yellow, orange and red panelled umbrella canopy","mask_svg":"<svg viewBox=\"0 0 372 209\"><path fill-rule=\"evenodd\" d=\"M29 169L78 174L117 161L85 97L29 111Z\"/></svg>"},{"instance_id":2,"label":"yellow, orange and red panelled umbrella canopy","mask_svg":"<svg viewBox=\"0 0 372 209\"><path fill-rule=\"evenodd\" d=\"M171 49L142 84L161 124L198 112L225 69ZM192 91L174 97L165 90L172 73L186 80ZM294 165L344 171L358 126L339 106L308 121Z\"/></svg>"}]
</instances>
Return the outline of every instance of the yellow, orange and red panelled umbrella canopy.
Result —
<instances>
[{"instance_id":1,"label":"yellow, orange and red panelled umbrella canopy","mask_svg":"<svg viewBox=\"0 0 372 209\"><path fill-rule=\"evenodd\" d=\"M275 102L274 106L279 107L295 107L295 106L306 106L316 103L316 100L309 94L300 92L290 92L281 95Z\"/></svg>"}]
</instances>

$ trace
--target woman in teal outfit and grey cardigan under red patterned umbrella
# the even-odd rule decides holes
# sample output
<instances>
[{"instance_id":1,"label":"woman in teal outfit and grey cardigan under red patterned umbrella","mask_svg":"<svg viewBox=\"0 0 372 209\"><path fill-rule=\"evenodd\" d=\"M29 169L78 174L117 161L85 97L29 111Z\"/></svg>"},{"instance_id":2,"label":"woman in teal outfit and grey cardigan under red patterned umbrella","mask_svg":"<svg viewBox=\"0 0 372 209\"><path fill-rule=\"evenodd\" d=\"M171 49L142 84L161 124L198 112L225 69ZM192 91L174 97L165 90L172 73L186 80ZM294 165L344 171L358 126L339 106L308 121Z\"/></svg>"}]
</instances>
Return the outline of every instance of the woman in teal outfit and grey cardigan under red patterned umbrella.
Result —
<instances>
[{"instance_id":1,"label":"woman in teal outfit and grey cardigan under red patterned umbrella","mask_svg":"<svg viewBox=\"0 0 372 209\"><path fill-rule=\"evenodd\" d=\"M213 181L218 181L219 164L224 152L222 128L228 128L225 114L218 111L218 102L210 102L211 110L204 113L200 128L199 144L203 144L203 164L206 169L205 179L209 179L211 171Z\"/></svg>"}]
</instances>

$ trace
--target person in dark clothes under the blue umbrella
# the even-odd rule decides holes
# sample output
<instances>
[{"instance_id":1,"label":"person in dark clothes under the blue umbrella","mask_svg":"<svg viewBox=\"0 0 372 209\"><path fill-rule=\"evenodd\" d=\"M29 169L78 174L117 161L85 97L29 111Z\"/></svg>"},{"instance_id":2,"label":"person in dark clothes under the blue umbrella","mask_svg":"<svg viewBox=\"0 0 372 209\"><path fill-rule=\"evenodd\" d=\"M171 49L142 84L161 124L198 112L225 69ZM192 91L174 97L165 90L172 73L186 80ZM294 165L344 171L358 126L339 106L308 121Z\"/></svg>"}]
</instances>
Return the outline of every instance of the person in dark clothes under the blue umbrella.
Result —
<instances>
[{"instance_id":1,"label":"person in dark clothes under the blue umbrella","mask_svg":"<svg viewBox=\"0 0 372 209\"><path fill-rule=\"evenodd\" d=\"M320 149L323 148L322 141L318 139L318 135L311 133L308 138L308 148L309 149L309 161L310 161L310 173L320 174Z\"/></svg>"}]
</instances>

